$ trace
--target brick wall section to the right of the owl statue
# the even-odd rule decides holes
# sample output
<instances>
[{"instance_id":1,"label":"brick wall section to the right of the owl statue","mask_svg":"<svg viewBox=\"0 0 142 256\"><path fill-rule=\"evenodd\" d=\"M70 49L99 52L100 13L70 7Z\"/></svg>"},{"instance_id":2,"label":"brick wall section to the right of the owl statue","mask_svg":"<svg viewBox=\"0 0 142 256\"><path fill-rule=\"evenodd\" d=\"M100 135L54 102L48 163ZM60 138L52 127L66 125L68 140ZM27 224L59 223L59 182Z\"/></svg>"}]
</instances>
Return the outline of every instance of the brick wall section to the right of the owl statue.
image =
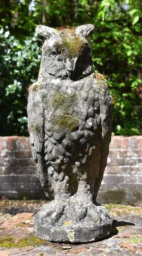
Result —
<instances>
[{"instance_id":1,"label":"brick wall section to the right of the owl statue","mask_svg":"<svg viewBox=\"0 0 142 256\"><path fill-rule=\"evenodd\" d=\"M103 202L142 200L142 136L113 136L98 194Z\"/></svg>"}]
</instances>

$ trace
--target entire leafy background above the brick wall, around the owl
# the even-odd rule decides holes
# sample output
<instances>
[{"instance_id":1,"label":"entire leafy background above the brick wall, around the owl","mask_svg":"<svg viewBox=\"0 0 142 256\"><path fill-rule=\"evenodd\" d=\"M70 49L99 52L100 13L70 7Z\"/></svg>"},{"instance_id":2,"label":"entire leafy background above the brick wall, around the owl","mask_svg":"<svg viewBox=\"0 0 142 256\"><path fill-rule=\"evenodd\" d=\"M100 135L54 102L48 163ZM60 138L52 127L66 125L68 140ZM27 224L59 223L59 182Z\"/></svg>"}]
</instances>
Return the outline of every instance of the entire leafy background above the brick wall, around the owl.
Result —
<instances>
[{"instance_id":1,"label":"entire leafy background above the brick wall, around the owl","mask_svg":"<svg viewBox=\"0 0 142 256\"><path fill-rule=\"evenodd\" d=\"M95 25L94 72L105 75L114 99L113 134L141 134L141 11L141 0L0 0L0 135L28 136L26 88L41 58L36 26L86 23Z\"/></svg>"}]
</instances>

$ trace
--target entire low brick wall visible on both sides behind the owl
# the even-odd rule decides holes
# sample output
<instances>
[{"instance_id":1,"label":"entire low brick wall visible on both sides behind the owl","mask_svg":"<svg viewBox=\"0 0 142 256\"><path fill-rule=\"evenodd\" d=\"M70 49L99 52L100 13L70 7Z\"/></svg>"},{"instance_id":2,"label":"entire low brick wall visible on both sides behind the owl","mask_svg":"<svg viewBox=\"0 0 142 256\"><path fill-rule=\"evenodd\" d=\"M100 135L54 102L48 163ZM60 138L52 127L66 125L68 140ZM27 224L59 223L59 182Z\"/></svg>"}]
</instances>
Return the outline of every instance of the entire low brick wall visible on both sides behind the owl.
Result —
<instances>
[{"instance_id":1,"label":"entire low brick wall visible on both sides behind the owl","mask_svg":"<svg viewBox=\"0 0 142 256\"><path fill-rule=\"evenodd\" d=\"M113 136L101 202L136 201L142 191L142 136ZM44 197L28 137L0 137L0 197Z\"/></svg>"}]
</instances>

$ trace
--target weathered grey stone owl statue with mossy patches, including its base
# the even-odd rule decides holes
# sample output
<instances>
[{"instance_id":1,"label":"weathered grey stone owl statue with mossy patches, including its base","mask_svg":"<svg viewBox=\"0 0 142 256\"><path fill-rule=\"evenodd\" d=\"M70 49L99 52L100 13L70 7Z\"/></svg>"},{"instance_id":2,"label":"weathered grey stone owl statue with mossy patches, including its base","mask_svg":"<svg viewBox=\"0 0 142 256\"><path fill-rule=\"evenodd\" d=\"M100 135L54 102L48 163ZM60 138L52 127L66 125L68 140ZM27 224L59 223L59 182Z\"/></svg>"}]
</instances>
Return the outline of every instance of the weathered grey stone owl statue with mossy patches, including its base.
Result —
<instances>
[{"instance_id":1,"label":"weathered grey stone owl statue with mossy patches, including its base","mask_svg":"<svg viewBox=\"0 0 142 256\"><path fill-rule=\"evenodd\" d=\"M55 30L45 38L39 77L29 88L28 127L33 158L47 197L34 217L37 236L80 243L109 235L112 219L96 197L111 140L111 96L92 68L94 26Z\"/></svg>"}]
</instances>

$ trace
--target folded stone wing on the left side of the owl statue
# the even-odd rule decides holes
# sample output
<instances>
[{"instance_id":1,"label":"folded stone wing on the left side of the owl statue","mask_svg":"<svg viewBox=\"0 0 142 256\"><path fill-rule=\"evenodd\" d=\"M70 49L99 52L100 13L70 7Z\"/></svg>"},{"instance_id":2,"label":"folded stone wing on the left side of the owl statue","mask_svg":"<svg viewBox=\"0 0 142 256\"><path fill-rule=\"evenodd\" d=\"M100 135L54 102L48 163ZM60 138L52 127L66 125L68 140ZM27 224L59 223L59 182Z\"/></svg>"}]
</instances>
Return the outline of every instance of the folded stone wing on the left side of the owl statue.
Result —
<instances>
[{"instance_id":1,"label":"folded stone wing on the left side of the owl statue","mask_svg":"<svg viewBox=\"0 0 142 256\"><path fill-rule=\"evenodd\" d=\"M44 108L41 94L32 88L29 90L27 102L28 129L33 159L36 162L38 177L44 188Z\"/></svg>"}]
</instances>

